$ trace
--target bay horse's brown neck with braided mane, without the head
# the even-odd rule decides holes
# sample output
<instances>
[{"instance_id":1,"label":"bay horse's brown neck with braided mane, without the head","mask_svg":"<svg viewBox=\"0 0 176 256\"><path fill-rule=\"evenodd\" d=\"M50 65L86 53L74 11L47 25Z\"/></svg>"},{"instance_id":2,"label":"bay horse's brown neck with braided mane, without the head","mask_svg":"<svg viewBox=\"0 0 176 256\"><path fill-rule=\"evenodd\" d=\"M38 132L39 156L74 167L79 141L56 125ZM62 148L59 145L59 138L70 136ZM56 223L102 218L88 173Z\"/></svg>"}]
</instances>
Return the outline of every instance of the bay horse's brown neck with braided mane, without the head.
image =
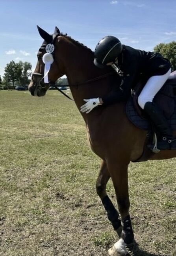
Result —
<instances>
[{"instance_id":1,"label":"bay horse's brown neck with braided mane, without the head","mask_svg":"<svg viewBox=\"0 0 176 256\"><path fill-rule=\"evenodd\" d=\"M101 76L109 72L101 70L94 66L94 54L90 49L82 45L74 45L74 42L65 40L64 66L65 74L70 84L70 90L74 101L80 109L84 98L95 98L104 95L107 92L107 81L97 80L95 82L86 83L88 80ZM83 84L84 83L84 84ZM71 86L72 84L82 84Z\"/></svg>"}]
</instances>

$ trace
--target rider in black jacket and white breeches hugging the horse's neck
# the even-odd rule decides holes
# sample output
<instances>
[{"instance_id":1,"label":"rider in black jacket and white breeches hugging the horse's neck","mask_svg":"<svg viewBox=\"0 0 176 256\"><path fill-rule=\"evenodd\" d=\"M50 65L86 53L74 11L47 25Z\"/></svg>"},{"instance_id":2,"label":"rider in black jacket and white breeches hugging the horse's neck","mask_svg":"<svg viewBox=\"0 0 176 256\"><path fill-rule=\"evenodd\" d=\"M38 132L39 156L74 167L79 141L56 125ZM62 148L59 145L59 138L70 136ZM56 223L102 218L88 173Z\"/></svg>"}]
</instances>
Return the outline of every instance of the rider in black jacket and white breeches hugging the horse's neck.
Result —
<instances>
[{"instance_id":1,"label":"rider in black jacket and white breeches hugging the horse's neck","mask_svg":"<svg viewBox=\"0 0 176 256\"><path fill-rule=\"evenodd\" d=\"M129 98L132 87L139 81L141 74L147 79L141 91L138 104L154 123L158 137L157 148L176 149L176 141L172 135L167 119L153 102L154 96L168 79L171 68L168 59L155 52L136 50L122 45L114 36L106 36L98 42L94 51L94 65L104 68L111 67L122 77L119 87L102 98L85 99L81 111L89 113L98 105L108 106ZM153 145L151 145L151 149Z\"/></svg>"}]
</instances>

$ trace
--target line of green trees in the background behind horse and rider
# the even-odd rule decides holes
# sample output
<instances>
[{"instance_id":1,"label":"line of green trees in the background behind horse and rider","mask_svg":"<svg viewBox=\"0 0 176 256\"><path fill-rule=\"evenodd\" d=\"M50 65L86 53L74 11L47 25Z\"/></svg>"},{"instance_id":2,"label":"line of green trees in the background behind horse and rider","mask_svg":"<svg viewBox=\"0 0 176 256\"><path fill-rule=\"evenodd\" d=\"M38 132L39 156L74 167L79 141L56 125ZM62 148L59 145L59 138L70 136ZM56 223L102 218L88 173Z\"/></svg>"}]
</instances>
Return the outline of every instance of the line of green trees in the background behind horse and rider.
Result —
<instances>
[{"instance_id":1,"label":"line of green trees in the background behind horse and rider","mask_svg":"<svg viewBox=\"0 0 176 256\"><path fill-rule=\"evenodd\" d=\"M172 71L176 70L176 41L171 43L160 43L154 47L154 52L159 52L164 58L169 59ZM32 65L29 62L15 63L11 61L5 67L3 78L0 76L0 87L3 86L28 86L30 83ZM67 78L57 80L57 85L68 84Z\"/></svg>"}]
</instances>

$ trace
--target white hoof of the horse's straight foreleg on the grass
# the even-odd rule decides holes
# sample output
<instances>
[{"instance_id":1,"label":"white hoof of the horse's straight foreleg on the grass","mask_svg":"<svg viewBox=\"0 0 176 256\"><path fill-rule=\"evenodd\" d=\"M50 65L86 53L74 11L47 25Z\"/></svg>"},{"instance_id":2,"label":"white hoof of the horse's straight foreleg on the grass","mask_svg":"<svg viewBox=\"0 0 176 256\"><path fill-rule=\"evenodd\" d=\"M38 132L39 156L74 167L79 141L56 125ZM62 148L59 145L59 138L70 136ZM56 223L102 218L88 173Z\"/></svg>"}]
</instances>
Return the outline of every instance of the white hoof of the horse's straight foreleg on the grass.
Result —
<instances>
[{"instance_id":1,"label":"white hoof of the horse's straight foreleg on the grass","mask_svg":"<svg viewBox=\"0 0 176 256\"><path fill-rule=\"evenodd\" d=\"M120 238L119 241L115 243L113 247L111 247L108 250L108 255L109 256L125 256L126 254L128 254L125 246L126 246L126 243L122 238Z\"/></svg>"}]
</instances>

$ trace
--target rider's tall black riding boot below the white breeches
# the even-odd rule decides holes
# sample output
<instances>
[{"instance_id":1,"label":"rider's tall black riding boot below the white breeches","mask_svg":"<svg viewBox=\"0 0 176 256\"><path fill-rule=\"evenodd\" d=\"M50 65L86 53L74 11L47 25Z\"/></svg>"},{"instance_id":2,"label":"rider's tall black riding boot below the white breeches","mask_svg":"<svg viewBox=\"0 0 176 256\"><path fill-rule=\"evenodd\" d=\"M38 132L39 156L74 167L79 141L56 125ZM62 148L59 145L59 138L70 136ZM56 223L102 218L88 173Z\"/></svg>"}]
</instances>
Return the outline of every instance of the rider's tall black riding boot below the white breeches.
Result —
<instances>
[{"instance_id":1,"label":"rider's tall black riding boot below the white breeches","mask_svg":"<svg viewBox=\"0 0 176 256\"><path fill-rule=\"evenodd\" d=\"M157 148L160 150L176 149L176 140L172 135L167 119L163 113L153 102L146 102L144 111L148 114L150 120L154 124L159 136L157 137ZM153 149L153 145L149 146Z\"/></svg>"}]
</instances>

